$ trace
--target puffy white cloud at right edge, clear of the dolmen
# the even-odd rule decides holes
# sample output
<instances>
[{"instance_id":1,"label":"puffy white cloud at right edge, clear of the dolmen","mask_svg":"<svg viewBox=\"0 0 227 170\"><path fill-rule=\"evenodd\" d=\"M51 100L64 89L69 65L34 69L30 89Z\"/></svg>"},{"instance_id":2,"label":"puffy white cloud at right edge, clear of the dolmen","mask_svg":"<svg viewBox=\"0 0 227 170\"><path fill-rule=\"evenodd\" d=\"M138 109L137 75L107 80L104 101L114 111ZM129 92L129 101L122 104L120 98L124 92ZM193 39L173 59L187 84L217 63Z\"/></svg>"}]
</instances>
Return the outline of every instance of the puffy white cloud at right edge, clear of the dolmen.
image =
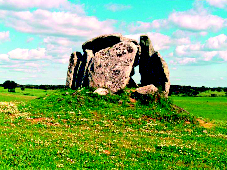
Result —
<instances>
[{"instance_id":1,"label":"puffy white cloud at right edge, clear of the dolmen","mask_svg":"<svg viewBox=\"0 0 227 170\"><path fill-rule=\"evenodd\" d=\"M169 54L173 58L170 64L173 65L189 63L199 65L227 61L227 36L224 34L210 37L204 44L191 42L183 45L175 45L174 52Z\"/></svg>"}]
</instances>

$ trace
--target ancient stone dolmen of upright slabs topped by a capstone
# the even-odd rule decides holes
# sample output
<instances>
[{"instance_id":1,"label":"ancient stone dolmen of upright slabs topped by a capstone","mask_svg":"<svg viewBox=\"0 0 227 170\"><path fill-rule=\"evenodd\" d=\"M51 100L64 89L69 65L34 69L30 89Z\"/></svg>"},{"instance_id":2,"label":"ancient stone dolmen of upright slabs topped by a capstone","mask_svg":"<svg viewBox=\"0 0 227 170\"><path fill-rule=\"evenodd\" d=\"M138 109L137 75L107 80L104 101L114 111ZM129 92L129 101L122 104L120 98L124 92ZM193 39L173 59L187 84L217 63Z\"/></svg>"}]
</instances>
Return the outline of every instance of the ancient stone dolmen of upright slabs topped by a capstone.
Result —
<instances>
[{"instance_id":1,"label":"ancient stone dolmen of upright slabs topped by a capstone","mask_svg":"<svg viewBox=\"0 0 227 170\"><path fill-rule=\"evenodd\" d=\"M101 35L85 42L82 49L83 55L75 52L70 57L67 87L105 88L112 93L126 86L138 87L132 76L139 65L140 86L151 85L148 87L157 88L168 97L168 66L147 35L140 37L140 43L121 34Z\"/></svg>"}]
</instances>

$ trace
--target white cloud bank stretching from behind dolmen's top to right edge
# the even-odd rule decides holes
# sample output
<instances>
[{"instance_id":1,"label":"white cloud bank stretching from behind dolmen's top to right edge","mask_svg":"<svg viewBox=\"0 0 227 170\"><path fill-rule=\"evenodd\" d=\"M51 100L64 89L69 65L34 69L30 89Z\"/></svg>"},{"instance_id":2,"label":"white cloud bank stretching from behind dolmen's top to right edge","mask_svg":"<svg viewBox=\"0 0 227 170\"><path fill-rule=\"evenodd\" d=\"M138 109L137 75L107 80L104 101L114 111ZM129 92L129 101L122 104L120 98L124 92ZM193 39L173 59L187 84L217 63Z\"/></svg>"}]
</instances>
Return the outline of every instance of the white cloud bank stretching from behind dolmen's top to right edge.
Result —
<instances>
[{"instance_id":1,"label":"white cloud bank stretching from behind dolmen's top to right edge","mask_svg":"<svg viewBox=\"0 0 227 170\"><path fill-rule=\"evenodd\" d=\"M179 32L181 33L181 32ZM141 34L126 35L128 38L139 40ZM156 51L167 52L168 49L175 49L165 55L172 60L170 64L186 65L186 64L201 64L205 62L224 62L227 61L227 37L224 34L209 38L204 44L191 41L190 37L167 36L160 33L148 32L147 35Z\"/></svg>"}]
</instances>

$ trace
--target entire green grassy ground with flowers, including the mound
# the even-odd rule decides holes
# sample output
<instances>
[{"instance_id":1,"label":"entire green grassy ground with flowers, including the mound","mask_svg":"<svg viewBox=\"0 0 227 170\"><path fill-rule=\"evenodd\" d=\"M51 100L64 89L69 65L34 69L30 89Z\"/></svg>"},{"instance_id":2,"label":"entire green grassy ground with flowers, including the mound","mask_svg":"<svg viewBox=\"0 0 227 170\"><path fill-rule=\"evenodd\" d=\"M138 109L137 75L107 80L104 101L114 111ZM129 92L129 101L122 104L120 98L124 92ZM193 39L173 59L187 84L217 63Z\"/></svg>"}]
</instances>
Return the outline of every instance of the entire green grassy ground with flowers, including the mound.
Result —
<instances>
[{"instance_id":1,"label":"entire green grassy ground with flowers, including the mound","mask_svg":"<svg viewBox=\"0 0 227 170\"><path fill-rule=\"evenodd\" d=\"M0 92L0 169L227 168L226 97L171 97L188 114L128 91L16 92Z\"/></svg>"}]
</instances>

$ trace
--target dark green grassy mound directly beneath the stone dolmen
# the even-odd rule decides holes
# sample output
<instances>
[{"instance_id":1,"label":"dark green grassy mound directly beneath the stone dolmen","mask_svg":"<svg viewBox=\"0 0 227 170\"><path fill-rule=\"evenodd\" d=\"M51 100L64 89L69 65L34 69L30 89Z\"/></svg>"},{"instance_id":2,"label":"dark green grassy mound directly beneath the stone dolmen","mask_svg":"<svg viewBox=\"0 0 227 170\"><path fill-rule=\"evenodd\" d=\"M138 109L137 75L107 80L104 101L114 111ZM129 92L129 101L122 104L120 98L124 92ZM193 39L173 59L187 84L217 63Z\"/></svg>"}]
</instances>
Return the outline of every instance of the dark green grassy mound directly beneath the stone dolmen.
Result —
<instances>
[{"instance_id":1,"label":"dark green grassy mound directly beneath the stone dolmen","mask_svg":"<svg viewBox=\"0 0 227 170\"><path fill-rule=\"evenodd\" d=\"M61 90L32 101L23 112L33 113L34 118L48 117L74 124L78 119L107 117L109 120L124 116L126 119L146 121L155 119L162 122L195 123L195 118L176 107L169 99L155 95L139 95L130 90L117 95L100 96L89 89L78 91Z\"/></svg>"}]
</instances>

